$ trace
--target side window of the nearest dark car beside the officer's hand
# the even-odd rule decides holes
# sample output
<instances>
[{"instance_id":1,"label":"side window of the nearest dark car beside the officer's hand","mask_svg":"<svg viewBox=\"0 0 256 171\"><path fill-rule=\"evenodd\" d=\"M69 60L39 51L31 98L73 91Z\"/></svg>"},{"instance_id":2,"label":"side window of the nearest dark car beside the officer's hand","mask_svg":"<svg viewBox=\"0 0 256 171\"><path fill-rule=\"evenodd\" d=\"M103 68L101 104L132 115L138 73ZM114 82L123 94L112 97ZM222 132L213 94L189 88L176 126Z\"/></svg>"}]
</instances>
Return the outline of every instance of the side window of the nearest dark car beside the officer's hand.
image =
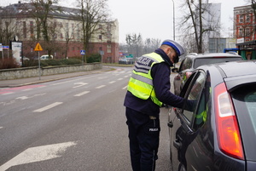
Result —
<instances>
[{"instance_id":1,"label":"side window of the nearest dark car beside the officer's hand","mask_svg":"<svg viewBox=\"0 0 256 171\"><path fill-rule=\"evenodd\" d=\"M186 117L187 121L189 122L189 124L191 125L193 123L194 120L194 113L198 113L201 112L201 110L197 110L196 111L196 105L199 104L199 107L204 107L205 105L202 104L204 101L201 98L201 93L202 90L204 88L205 85L205 74L203 74L202 72L199 72L196 75L196 78L194 81L192 81L189 85L189 89L186 93L186 99L187 99L187 105L184 105L183 108L183 116Z\"/></svg>"}]
</instances>

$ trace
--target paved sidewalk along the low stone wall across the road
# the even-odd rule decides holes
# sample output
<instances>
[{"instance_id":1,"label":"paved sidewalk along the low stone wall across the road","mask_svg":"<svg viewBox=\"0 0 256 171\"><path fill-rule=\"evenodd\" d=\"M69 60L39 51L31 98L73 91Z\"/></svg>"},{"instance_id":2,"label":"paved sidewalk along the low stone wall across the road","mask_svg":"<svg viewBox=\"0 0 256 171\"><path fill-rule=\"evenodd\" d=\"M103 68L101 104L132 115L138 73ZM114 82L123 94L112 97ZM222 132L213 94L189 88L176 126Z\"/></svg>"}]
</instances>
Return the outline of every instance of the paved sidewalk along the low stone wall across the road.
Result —
<instances>
[{"instance_id":1,"label":"paved sidewalk along the low stone wall across the road","mask_svg":"<svg viewBox=\"0 0 256 171\"><path fill-rule=\"evenodd\" d=\"M14 88L14 87L20 87L25 85L31 85L35 83L45 83L45 82L60 80L68 77L79 77L79 76L95 74L103 71L112 71L112 70L113 69L111 68L111 66L102 66L102 69L100 70L77 71L77 72L56 74L56 75L50 75L50 76L41 76L40 79L38 76L38 77L20 78L15 80L1 80L0 88Z\"/></svg>"}]
</instances>

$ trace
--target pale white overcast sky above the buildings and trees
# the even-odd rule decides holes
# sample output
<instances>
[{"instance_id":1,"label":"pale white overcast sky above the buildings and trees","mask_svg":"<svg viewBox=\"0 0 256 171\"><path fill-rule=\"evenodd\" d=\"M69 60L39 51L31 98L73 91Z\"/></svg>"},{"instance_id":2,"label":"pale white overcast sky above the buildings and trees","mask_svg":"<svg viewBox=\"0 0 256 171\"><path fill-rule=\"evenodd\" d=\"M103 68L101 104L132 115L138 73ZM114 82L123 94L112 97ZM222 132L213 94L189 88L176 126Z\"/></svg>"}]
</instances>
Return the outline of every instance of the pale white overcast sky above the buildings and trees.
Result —
<instances>
[{"instance_id":1,"label":"pale white overcast sky above the buildings and trees","mask_svg":"<svg viewBox=\"0 0 256 171\"><path fill-rule=\"evenodd\" d=\"M61 0L67 7L75 7L73 0ZM75 1L75 0L74 0ZM183 14L179 9L182 0L173 0L175 5L175 21ZM0 6L17 3L18 0L0 0ZM23 0L21 0L23 2ZM68 3L67 3L68 2ZM229 37L228 31L233 27L233 9L247 5L246 0L209 0L209 3L221 4L221 23L224 28L223 37ZM119 20L119 43L125 43L125 35L141 33L146 38L173 38L173 3L172 0L108 0L108 9L113 19ZM176 36L178 31L176 28ZM176 38L177 39L177 38Z\"/></svg>"}]
</instances>

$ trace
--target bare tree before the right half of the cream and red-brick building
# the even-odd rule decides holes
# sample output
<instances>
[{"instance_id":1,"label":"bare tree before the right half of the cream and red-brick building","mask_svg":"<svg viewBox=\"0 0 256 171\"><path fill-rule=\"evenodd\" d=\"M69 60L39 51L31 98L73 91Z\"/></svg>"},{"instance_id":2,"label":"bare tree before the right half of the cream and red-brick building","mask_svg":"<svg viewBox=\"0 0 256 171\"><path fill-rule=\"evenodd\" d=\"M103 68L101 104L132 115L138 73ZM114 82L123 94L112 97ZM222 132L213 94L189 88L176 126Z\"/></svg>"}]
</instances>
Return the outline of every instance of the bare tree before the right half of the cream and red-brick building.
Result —
<instances>
[{"instance_id":1,"label":"bare tree before the right half of the cream and red-brick building","mask_svg":"<svg viewBox=\"0 0 256 171\"><path fill-rule=\"evenodd\" d=\"M96 32L100 31L102 35L107 33L107 30L103 30L100 26L101 23L108 21L107 2L108 0L78 0L86 52L89 52L90 40L94 38ZM86 57L84 62L86 63Z\"/></svg>"}]
</instances>

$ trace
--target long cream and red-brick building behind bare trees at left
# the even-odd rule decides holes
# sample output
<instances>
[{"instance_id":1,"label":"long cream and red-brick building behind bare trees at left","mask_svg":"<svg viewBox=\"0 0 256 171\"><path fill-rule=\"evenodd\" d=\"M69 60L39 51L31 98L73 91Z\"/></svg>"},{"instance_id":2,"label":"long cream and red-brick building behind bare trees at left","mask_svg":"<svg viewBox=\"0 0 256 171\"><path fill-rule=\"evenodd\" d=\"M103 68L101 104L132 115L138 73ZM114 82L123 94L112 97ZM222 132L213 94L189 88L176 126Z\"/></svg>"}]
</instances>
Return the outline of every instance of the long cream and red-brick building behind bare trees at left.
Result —
<instances>
[{"instance_id":1,"label":"long cream and red-brick building behind bare trees at left","mask_svg":"<svg viewBox=\"0 0 256 171\"><path fill-rule=\"evenodd\" d=\"M18 37L23 43L24 56L29 58L37 56L33 49L38 42L44 49L40 54L48 54L46 49L49 49L56 59L81 57L80 51L84 49L84 30L80 10L52 5L45 19L48 27L45 32L46 29L38 25L38 22L44 21L39 19L43 15L35 17L34 8L31 3L15 3L0 8L0 31L5 33L4 37L7 36L5 39L13 40L13 37ZM2 38L2 42L6 41ZM97 22L90 36L88 49L86 54L102 54L102 62L117 62L118 20Z\"/></svg>"}]
</instances>

